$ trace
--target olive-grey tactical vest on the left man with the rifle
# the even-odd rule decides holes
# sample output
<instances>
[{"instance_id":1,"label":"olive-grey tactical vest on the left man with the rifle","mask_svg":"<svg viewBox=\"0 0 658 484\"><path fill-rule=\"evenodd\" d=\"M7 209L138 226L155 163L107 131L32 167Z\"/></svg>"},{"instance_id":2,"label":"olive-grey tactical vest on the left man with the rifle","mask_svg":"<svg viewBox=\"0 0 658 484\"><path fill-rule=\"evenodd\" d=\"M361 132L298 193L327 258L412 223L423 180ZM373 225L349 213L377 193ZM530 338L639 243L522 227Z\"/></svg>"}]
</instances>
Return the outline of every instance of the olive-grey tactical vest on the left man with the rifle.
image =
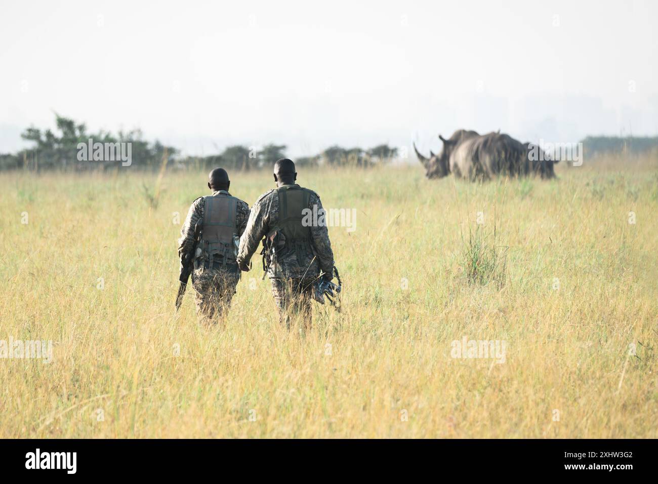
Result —
<instances>
[{"instance_id":1,"label":"olive-grey tactical vest on the left man with the rifle","mask_svg":"<svg viewBox=\"0 0 658 484\"><path fill-rule=\"evenodd\" d=\"M236 214L238 199L225 193L204 197L203 235L201 248L208 255L208 267L214 262L234 263L236 261Z\"/></svg>"}]
</instances>

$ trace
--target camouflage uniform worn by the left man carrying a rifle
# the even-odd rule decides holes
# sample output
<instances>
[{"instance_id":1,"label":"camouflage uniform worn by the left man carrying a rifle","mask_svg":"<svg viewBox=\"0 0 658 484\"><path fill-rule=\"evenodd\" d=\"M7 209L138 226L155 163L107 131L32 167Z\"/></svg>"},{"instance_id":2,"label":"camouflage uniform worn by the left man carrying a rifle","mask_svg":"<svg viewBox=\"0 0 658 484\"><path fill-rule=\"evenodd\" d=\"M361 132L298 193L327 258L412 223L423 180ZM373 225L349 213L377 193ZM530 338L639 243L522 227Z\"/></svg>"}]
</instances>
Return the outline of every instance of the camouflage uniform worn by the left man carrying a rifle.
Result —
<instances>
[{"instance_id":1,"label":"camouflage uniform worn by the left man carrying a rifle","mask_svg":"<svg viewBox=\"0 0 658 484\"><path fill-rule=\"evenodd\" d=\"M226 190L213 192L213 197L225 195L230 196ZM235 230L241 236L247 227L249 219L249 205L240 199L234 199L235 203ZM178 240L178 255L191 250L194 242L194 227L198 221L203 223L206 207L206 198L200 197L195 200L188 212ZM205 228L204 228L205 229ZM207 230L204 230L207 232ZM215 250L209 253L207 244L200 244L194 257L194 271L191 275L192 287L195 290L195 302L197 313L208 323L217 321L231 304L231 299L236 293L236 286L240 281L240 269L232 260L232 255L224 258L216 255ZM211 255L213 257L211 257Z\"/></svg>"}]
</instances>

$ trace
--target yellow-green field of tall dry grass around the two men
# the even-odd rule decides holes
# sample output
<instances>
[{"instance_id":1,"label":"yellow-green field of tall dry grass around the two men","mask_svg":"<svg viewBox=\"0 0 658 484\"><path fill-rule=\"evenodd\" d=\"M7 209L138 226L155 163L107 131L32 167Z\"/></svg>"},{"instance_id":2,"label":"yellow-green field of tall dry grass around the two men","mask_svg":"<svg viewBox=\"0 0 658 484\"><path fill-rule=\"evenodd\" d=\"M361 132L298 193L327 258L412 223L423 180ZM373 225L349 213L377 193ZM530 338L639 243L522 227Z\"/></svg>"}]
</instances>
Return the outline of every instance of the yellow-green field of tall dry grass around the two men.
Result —
<instances>
[{"instance_id":1,"label":"yellow-green field of tall dry grass around the two men","mask_svg":"<svg viewBox=\"0 0 658 484\"><path fill-rule=\"evenodd\" d=\"M0 340L53 358L0 359L0 437L658 437L658 161L618 166L300 171L357 209L329 229L342 313L315 305L304 334L279 326L259 255L224 325L190 293L176 315L205 173L3 173ZM272 188L231 175L249 205ZM504 340L504 362L452 358L464 337Z\"/></svg>"}]
</instances>

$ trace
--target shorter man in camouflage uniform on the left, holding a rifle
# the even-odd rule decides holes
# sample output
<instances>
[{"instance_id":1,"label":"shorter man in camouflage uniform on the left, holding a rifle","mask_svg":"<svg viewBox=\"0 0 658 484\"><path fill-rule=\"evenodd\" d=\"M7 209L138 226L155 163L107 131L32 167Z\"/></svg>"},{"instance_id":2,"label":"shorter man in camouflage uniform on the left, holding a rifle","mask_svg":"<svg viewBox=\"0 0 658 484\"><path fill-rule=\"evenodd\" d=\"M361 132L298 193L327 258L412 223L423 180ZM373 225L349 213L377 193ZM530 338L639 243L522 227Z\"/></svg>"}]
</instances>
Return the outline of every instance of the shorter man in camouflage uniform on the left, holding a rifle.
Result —
<instances>
[{"instance_id":1,"label":"shorter man in camouflage uniform on the left, holding a rifle","mask_svg":"<svg viewBox=\"0 0 658 484\"><path fill-rule=\"evenodd\" d=\"M230 184L224 169L211 171L208 188L213 194L199 197L192 203L178 240L178 255L182 261L194 244L194 227L201 221L203 235L194 255L191 278L197 314L206 323L214 323L222 317L240 281L236 253L238 240L247 227L249 205L228 193Z\"/></svg>"}]
</instances>

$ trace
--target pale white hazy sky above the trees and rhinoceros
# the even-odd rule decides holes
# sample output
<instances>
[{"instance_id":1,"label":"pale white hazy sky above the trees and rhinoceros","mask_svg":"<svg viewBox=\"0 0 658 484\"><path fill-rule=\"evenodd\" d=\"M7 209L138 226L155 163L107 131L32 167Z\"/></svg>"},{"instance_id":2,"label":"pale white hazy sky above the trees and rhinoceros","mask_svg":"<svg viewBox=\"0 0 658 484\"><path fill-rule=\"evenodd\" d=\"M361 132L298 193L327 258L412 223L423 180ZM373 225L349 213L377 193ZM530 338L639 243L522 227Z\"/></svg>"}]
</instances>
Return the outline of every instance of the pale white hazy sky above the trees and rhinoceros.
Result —
<instances>
[{"instance_id":1,"label":"pale white hazy sky above the trees and rhinoceros","mask_svg":"<svg viewBox=\"0 0 658 484\"><path fill-rule=\"evenodd\" d=\"M658 134L655 1L0 1L0 152L53 111L197 155Z\"/></svg>"}]
</instances>

